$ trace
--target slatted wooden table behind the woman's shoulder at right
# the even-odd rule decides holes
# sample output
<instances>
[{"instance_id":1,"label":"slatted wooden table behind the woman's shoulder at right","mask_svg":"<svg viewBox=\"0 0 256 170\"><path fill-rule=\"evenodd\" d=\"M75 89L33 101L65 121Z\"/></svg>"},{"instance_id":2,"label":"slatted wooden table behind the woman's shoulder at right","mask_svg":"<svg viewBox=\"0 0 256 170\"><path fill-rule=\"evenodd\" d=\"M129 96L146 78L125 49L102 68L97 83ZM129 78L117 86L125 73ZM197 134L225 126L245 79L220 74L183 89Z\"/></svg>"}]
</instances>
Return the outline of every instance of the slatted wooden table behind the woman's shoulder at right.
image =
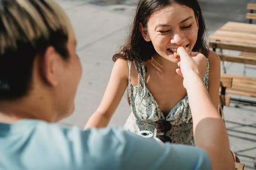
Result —
<instances>
[{"instance_id":1,"label":"slatted wooden table behind the woman's shoulder at right","mask_svg":"<svg viewBox=\"0 0 256 170\"><path fill-rule=\"evenodd\" d=\"M227 22L209 36L209 46L242 52L239 56L220 54L222 61L256 65L256 24Z\"/></svg>"}]
</instances>

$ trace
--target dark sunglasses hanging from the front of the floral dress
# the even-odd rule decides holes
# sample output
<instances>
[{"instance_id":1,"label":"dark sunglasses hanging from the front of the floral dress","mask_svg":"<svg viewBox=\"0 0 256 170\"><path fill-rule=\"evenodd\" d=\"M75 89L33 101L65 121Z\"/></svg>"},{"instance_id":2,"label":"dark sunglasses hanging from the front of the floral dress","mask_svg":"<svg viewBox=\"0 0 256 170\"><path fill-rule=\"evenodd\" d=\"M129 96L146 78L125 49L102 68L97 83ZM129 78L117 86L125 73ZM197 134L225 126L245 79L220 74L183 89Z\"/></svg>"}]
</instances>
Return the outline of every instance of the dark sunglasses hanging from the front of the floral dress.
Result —
<instances>
[{"instance_id":1,"label":"dark sunglasses hanging from the front of the floral dress","mask_svg":"<svg viewBox=\"0 0 256 170\"><path fill-rule=\"evenodd\" d=\"M170 142L172 143L172 139L169 136L166 136L166 133L172 129L172 125L167 120L158 120L155 124L155 128L157 132L162 132L163 135L158 135L162 142Z\"/></svg>"}]
</instances>

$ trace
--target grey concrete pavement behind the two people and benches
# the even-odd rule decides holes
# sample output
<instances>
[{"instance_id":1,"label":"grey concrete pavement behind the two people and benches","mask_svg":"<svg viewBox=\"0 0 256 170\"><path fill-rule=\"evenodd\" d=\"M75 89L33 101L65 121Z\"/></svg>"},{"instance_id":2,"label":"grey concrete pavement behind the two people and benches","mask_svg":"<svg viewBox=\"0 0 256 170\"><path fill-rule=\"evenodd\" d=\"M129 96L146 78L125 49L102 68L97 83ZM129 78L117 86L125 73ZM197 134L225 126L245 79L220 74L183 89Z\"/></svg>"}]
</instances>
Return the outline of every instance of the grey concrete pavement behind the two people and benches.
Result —
<instances>
[{"instance_id":1,"label":"grey concrete pavement behind the two people and benches","mask_svg":"<svg viewBox=\"0 0 256 170\"><path fill-rule=\"evenodd\" d=\"M62 125L83 127L90 115L97 109L111 69L112 56L124 43L133 20L136 2L132 0L57 0L67 12L78 40L77 53L83 66L83 75L75 101L73 115L62 120ZM199 1L205 17L208 34L220 28L227 21L246 22L246 4L252 0ZM227 54L231 52L225 52ZM242 64L228 63L231 74L243 73ZM256 70L248 70L247 76L255 77ZM72 81L72 80L71 80ZM253 99L255 100L255 99ZM256 107L239 105L224 108L226 126L231 150L240 156L245 169L254 169L256 154ZM123 126L130 114L126 95L111 119L111 125ZM248 124L249 127L240 125ZM242 130L248 133L239 133Z\"/></svg>"}]
</instances>

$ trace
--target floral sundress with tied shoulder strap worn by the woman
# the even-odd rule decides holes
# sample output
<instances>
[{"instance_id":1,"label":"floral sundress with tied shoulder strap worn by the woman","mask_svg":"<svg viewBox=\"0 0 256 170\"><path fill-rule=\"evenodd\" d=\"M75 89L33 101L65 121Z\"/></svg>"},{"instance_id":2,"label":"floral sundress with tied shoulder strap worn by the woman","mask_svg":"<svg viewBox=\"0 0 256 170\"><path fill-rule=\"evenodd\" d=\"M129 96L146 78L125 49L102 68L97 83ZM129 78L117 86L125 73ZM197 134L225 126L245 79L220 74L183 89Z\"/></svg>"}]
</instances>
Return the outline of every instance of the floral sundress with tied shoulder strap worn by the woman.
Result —
<instances>
[{"instance_id":1,"label":"floral sundress with tied shoulder strap worn by the woman","mask_svg":"<svg viewBox=\"0 0 256 170\"><path fill-rule=\"evenodd\" d=\"M138 85L131 84L131 61L129 64L129 84L128 96L132 113L126 120L124 130L138 134L142 130L152 131L154 137L158 132L155 129L155 123L158 120L167 120L172 125L172 129L166 133L172 139L173 143L195 145L193 137L193 123L190 108L188 105L188 96L186 95L165 117L161 112L154 96L145 85L146 75L143 63L134 61L138 72ZM209 62L207 63L207 72L203 79L206 88L209 80Z\"/></svg>"}]
</instances>

